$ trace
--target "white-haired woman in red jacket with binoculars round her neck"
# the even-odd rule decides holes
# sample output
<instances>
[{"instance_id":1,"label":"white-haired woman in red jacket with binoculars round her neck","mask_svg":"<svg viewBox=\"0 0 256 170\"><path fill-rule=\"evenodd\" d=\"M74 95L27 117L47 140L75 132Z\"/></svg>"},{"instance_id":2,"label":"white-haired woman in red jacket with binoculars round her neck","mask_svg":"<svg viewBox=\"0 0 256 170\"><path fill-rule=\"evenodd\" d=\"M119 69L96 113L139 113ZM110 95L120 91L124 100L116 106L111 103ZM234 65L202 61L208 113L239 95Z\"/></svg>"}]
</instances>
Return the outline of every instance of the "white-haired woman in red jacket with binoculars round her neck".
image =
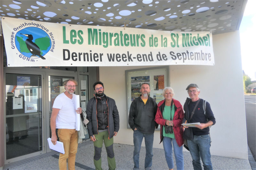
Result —
<instances>
[{"instance_id":1,"label":"white-haired woman in red jacket with binoculars round her neck","mask_svg":"<svg viewBox=\"0 0 256 170\"><path fill-rule=\"evenodd\" d=\"M163 141L165 159L170 170L173 169L172 147L176 160L177 170L184 169L182 153L183 127L181 122L184 117L183 108L178 100L172 98L172 87L163 90L164 100L157 105L155 121L161 125L160 143Z\"/></svg>"}]
</instances>

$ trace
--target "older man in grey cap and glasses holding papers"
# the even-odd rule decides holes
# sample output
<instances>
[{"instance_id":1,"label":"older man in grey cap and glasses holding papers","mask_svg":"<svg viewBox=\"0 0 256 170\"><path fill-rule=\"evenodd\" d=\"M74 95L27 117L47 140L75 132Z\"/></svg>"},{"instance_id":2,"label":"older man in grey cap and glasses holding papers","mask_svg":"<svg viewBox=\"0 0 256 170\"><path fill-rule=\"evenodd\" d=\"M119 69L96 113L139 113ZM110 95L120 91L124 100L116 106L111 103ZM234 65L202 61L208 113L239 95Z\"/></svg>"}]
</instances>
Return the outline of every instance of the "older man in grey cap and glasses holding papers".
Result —
<instances>
[{"instance_id":1,"label":"older man in grey cap and glasses holding papers","mask_svg":"<svg viewBox=\"0 0 256 170\"><path fill-rule=\"evenodd\" d=\"M196 84L188 85L186 90L190 98L187 98L183 107L185 111L183 123L200 122L200 125L195 125L196 128L184 126L185 131L183 138L187 139L194 169L202 169L200 157L203 162L204 170L212 169L209 126L215 124L215 118L208 102L206 102L206 107L204 108L205 100L198 97L200 90Z\"/></svg>"}]
</instances>

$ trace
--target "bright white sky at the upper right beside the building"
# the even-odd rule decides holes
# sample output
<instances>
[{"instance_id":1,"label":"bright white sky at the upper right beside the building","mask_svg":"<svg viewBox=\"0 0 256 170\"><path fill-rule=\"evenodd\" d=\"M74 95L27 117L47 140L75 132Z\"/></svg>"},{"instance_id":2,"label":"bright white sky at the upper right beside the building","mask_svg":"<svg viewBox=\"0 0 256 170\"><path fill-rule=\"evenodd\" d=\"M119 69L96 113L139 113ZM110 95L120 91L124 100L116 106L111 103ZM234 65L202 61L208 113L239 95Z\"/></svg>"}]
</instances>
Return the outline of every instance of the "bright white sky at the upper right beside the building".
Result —
<instances>
[{"instance_id":1,"label":"bright white sky at the upper right beside the building","mask_svg":"<svg viewBox=\"0 0 256 170\"><path fill-rule=\"evenodd\" d=\"M256 80L256 0L248 0L240 24L242 68L252 80Z\"/></svg>"}]
</instances>

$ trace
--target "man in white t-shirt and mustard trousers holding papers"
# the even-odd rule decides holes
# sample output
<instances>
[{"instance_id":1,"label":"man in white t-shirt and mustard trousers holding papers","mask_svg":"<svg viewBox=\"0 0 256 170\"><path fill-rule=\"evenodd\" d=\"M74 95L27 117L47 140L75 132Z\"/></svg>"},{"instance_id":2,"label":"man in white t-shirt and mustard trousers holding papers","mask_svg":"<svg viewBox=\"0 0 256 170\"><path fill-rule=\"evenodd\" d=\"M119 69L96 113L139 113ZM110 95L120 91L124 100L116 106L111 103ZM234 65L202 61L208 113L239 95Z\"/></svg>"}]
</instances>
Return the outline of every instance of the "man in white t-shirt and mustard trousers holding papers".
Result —
<instances>
[{"instance_id":1,"label":"man in white t-shirt and mustard trousers holding papers","mask_svg":"<svg viewBox=\"0 0 256 170\"><path fill-rule=\"evenodd\" d=\"M52 106L51 130L52 144L56 144L58 129L58 137L63 142L65 154L60 153L59 168L68 170L75 169L76 152L78 146L78 133L76 130L76 113L81 114L82 108L76 109L75 94L77 82L74 79L68 79L63 82L66 89L56 97Z\"/></svg>"}]
</instances>

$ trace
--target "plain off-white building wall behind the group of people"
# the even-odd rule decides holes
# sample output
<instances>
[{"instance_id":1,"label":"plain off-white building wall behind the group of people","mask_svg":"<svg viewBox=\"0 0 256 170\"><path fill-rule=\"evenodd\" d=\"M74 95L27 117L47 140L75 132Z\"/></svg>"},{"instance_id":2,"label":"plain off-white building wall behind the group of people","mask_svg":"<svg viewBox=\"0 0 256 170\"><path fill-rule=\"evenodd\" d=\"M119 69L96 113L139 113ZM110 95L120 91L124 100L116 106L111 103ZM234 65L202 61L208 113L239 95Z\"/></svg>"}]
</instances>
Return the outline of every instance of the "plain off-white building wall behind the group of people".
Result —
<instances>
[{"instance_id":1,"label":"plain off-white building wall behind the group of people","mask_svg":"<svg viewBox=\"0 0 256 170\"><path fill-rule=\"evenodd\" d=\"M188 93L186 87L196 83L200 98L207 100L216 118L210 129L211 154L247 159L247 137L243 93L239 31L213 36L214 66L170 65L170 86L174 98L183 105ZM115 143L133 145L133 131L127 129L125 70L149 66L100 67L100 81L105 94L116 100L120 115L120 130ZM155 131L154 148L163 148L160 131ZM145 146L144 142L142 146ZM185 151L186 149L183 149Z\"/></svg>"}]
</instances>

